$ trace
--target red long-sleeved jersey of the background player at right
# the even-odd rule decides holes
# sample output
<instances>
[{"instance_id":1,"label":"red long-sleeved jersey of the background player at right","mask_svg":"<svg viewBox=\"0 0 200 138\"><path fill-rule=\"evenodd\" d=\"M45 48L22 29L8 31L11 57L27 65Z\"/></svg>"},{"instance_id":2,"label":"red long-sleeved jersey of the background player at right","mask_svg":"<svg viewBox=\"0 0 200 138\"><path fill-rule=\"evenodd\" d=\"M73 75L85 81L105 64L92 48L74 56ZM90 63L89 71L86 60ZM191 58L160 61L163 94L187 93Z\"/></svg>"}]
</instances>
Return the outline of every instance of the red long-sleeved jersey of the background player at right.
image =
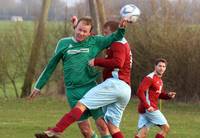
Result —
<instances>
[{"instance_id":1,"label":"red long-sleeved jersey of the background player at right","mask_svg":"<svg viewBox=\"0 0 200 138\"><path fill-rule=\"evenodd\" d=\"M148 109L150 106L158 109L158 99L170 99L168 94L163 90L163 81L162 79L155 74L155 72L147 75L141 82L137 96L140 99L138 105L138 112L144 113L145 109Z\"/></svg>"}]
</instances>

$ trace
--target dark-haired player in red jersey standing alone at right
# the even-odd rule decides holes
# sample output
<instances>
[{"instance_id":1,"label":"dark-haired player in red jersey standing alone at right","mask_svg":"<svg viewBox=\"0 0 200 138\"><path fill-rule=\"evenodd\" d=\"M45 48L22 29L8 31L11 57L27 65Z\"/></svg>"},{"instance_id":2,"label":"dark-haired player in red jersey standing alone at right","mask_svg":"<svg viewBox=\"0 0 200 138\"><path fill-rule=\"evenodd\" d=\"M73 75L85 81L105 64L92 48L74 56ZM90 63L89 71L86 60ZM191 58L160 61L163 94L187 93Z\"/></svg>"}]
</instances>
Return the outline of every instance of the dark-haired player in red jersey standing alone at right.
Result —
<instances>
[{"instance_id":1,"label":"dark-haired player in red jersey standing alone at right","mask_svg":"<svg viewBox=\"0 0 200 138\"><path fill-rule=\"evenodd\" d=\"M156 125L161 128L155 138L165 138L169 131L169 124L164 115L158 109L158 99L173 99L175 92L165 92L161 79L166 70L167 61L163 58L156 59L155 70L142 80L139 85L137 96L140 99L138 105L139 120L138 133L135 138L146 138L150 126Z\"/></svg>"}]
</instances>

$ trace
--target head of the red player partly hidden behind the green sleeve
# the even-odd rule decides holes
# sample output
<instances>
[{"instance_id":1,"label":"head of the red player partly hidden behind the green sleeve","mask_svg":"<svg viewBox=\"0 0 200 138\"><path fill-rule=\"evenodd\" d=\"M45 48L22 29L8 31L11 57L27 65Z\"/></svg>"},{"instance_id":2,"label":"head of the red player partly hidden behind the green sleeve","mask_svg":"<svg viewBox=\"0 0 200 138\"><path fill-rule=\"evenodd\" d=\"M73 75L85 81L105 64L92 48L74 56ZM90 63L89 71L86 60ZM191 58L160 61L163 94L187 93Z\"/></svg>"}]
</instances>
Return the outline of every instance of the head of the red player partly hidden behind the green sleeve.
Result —
<instances>
[{"instance_id":1,"label":"head of the red player partly hidden behind the green sleeve","mask_svg":"<svg viewBox=\"0 0 200 138\"><path fill-rule=\"evenodd\" d=\"M109 35L112 32L115 32L119 26L119 23L116 21L108 21L103 26L103 34Z\"/></svg>"}]
</instances>

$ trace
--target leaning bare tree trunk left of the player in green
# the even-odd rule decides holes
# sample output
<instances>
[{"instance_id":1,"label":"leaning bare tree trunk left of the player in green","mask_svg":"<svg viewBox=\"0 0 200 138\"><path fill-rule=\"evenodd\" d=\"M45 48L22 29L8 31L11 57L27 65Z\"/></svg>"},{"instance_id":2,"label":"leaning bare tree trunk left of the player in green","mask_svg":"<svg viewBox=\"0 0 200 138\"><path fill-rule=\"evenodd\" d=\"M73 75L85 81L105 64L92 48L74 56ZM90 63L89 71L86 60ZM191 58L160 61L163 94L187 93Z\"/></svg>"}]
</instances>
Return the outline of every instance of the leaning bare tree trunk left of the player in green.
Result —
<instances>
[{"instance_id":1,"label":"leaning bare tree trunk left of the player in green","mask_svg":"<svg viewBox=\"0 0 200 138\"><path fill-rule=\"evenodd\" d=\"M39 18L39 24L36 32L35 39L32 44L31 56L28 64L28 68L25 74L24 84L22 87L21 97L26 97L30 94L33 77L35 75L36 63L39 57L39 50L42 46L44 39L45 27L48 18L49 7L51 0L43 0L42 12Z\"/></svg>"}]
</instances>

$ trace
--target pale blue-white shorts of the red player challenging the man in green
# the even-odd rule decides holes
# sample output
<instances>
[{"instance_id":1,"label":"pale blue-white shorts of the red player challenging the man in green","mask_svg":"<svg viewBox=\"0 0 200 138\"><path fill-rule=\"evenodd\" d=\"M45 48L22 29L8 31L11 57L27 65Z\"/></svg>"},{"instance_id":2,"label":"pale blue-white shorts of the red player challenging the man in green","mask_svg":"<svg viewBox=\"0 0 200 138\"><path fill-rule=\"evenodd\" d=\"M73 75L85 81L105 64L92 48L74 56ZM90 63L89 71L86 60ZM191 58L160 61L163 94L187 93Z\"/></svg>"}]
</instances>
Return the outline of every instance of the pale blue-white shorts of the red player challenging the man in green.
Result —
<instances>
[{"instance_id":1,"label":"pale blue-white shorts of the red player challenging the man in green","mask_svg":"<svg viewBox=\"0 0 200 138\"><path fill-rule=\"evenodd\" d=\"M131 97L130 86L122 80L109 78L92 88L80 100L88 109L103 107L104 119L119 127L123 111Z\"/></svg>"}]
</instances>

